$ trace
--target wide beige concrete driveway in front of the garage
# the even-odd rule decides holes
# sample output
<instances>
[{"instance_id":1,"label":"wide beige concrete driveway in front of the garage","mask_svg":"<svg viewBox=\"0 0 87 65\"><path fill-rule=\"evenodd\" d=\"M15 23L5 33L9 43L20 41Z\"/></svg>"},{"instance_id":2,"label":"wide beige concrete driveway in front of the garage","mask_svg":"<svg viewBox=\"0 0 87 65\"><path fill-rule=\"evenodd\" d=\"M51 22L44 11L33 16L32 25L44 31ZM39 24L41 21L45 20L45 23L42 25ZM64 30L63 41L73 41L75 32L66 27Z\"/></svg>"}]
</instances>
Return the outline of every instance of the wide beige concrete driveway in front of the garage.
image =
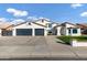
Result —
<instances>
[{"instance_id":1,"label":"wide beige concrete driveway in front of the garage","mask_svg":"<svg viewBox=\"0 0 87 65\"><path fill-rule=\"evenodd\" d=\"M56 41L56 36L2 36L0 59L86 59L87 47Z\"/></svg>"}]
</instances>

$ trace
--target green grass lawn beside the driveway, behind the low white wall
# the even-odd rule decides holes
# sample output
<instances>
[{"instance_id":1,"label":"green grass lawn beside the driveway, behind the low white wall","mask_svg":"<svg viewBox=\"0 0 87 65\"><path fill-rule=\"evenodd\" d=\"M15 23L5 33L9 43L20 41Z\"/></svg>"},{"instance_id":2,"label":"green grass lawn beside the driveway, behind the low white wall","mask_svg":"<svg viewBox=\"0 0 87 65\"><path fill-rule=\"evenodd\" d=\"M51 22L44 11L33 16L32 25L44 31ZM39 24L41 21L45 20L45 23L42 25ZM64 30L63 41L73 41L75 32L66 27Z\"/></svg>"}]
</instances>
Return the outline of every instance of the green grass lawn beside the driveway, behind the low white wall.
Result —
<instances>
[{"instance_id":1,"label":"green grass lawn beside the driveway, behind the low white wall","mask_svg":"<svg viewBox=\"0 0 87 65\"><path fill-rule=\"evenodd\" d=\"M62 42L61 43L64 43L64 44L70 44L70 41L72 40L77 40L79 42L83 42L83 41L87 41L87 36L57 36L57 39L59 39ZM57 41L58 42L58 41Z\"/></svg>"}]
</instances>

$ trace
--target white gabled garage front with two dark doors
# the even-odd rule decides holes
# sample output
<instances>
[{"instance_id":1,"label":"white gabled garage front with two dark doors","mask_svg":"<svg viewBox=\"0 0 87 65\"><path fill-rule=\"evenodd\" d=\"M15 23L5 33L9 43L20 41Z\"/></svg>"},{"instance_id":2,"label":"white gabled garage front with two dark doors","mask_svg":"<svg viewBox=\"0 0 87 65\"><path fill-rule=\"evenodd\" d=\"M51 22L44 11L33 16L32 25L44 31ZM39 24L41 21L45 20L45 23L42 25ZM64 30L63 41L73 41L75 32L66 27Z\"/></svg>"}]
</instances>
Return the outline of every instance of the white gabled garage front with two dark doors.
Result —
<instances>
[{"instance_id":1,"label":"white gabled garage front with two dark doors","mask_svg":"<svg viewBox=\"0 0 87 65\"><path fill-rule=\"evenodd\" d=\"M39 22L39 21L37 21ZM23 22L12 28L12 35L47 35L47 26L37 22Z\"/></svg>"}]
</instances>

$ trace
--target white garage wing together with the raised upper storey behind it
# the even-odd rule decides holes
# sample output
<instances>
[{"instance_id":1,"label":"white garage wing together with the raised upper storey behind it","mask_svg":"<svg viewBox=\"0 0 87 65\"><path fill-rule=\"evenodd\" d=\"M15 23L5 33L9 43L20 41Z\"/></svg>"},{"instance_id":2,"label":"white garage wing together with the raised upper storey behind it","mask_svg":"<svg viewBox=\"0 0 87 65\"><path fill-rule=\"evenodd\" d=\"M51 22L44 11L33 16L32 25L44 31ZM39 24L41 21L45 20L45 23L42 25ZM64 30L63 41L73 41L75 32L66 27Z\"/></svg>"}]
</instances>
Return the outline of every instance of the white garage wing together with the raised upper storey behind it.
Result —
<instances>
[{"instance_id":1,"label":"white garage wing together with the raised upper storey behind it","mask_svg":"<svg viewBox=\"0 0 87 65\"><path fill-rule=\"evenodd\" d=\"M46 19L28 21L12 28L13 35L47 35L52 29L52 22ZM28 32L30 31L30 32Z\"/></svg>"}]
</instances>

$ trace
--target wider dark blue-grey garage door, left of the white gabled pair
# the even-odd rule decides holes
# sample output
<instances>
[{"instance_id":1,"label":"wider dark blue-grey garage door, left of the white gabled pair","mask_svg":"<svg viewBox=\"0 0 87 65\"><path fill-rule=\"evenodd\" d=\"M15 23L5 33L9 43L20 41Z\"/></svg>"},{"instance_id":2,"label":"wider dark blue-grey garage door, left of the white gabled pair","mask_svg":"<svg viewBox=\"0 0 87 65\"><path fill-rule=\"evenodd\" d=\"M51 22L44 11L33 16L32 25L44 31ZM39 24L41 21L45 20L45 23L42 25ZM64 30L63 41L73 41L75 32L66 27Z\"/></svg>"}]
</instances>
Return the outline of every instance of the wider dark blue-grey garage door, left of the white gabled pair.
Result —
<instances>
[{"instance_id":1,"label":"wider dark blue-grey garage door, left of the white gabled pair","mask_svg":"<svg viewBox=\"0 0 87 65\"><path fill-rule=\"evenodd\" d=\"M17 29L17 35L32 35L32 29Z\"/></svg>"}]
</instances>

